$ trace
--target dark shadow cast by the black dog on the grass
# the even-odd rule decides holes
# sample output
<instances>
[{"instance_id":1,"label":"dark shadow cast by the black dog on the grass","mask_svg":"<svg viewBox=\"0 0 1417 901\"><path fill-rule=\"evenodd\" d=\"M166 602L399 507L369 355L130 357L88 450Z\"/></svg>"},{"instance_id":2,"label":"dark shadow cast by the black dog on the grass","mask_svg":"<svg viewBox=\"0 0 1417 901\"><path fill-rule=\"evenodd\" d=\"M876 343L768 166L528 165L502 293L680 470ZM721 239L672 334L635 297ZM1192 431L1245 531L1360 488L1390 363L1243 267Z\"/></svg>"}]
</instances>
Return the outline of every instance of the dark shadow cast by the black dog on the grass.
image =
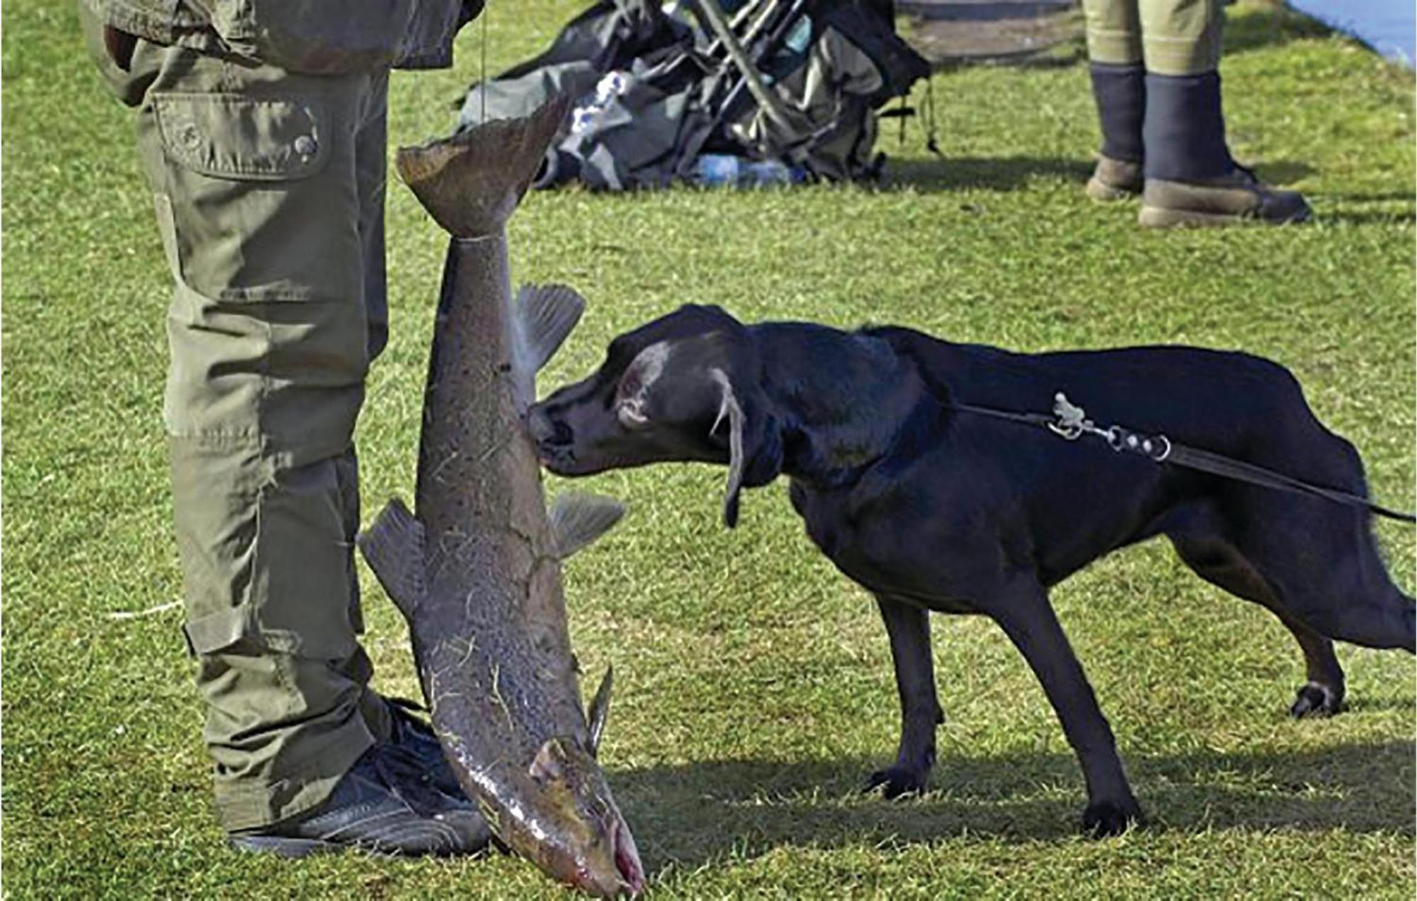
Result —
<instances>
[{"instance_id":1,"label":"dark shadow cast by the black dog on the grass","mask_svg":"<svg viewBox=\"0 0 1417 901\"><path fill-rule=\"evenodd\" d=\"M879 759L706 761L612 776L650 871L693 870L775 847L879 847L951 837L1067 840L1084 795L1070 755L948 758L935 790L857 795ZM1128 761L1151 829L1299 829L1413 834L1413 747L1195 754Z\"/></svg>"}]
</instances>

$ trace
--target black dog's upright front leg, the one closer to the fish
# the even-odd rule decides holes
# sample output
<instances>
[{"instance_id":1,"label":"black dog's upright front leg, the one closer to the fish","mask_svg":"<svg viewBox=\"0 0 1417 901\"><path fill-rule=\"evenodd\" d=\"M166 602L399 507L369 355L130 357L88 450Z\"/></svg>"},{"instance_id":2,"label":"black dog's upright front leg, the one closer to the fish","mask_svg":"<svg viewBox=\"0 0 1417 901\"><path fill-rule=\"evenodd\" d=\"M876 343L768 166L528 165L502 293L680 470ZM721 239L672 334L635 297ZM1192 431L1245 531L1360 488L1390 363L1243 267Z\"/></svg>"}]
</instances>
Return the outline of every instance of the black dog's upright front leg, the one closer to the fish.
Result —
<instances>
[{"instance_id":1,"label":"black dog's upright front leg, the one closer to the fish","mask_svg":"<svg viewBox=\"0 0 1417 901\"><path fill-rule=\"evenodd\" d=\"M896 765L870 775L866 790L886 786L886 798L925 790L935 764L935 727L944 721L935 697L935 667L930 660L930 613L896 598L877 595L900 691L900 752Z\"/></svg>"}]
</instances>

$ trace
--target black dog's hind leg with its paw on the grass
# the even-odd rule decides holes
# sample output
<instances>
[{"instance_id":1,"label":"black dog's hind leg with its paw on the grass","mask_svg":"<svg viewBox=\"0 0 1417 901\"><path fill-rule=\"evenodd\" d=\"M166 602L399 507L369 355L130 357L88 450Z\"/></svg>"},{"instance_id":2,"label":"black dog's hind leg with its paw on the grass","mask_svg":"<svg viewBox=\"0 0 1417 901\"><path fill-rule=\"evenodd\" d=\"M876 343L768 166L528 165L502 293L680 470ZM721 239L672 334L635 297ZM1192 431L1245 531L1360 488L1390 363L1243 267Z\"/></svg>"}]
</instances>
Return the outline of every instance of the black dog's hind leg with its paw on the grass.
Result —
<instances>
[{"instance_id":1,"label":"black dog's hind leg with its paw on the grass","mask_svg":"<svg viewBox=\"0 0 1417 901\"><path fill-rule=\"evenodd\" d=\"M1176 555L1196 575L1237 598L1264 606L1294 633L1299 649L1304 650L1308 681L1294 698L1289 707L1291 715L1329 715L1343 708L1343 667L1333 653L1333 642L1289 615L1280 604L1274 588L1234 545L1219 537L1183 534L1170 536L1170 541Z\"/></svg>"}]
</instances>

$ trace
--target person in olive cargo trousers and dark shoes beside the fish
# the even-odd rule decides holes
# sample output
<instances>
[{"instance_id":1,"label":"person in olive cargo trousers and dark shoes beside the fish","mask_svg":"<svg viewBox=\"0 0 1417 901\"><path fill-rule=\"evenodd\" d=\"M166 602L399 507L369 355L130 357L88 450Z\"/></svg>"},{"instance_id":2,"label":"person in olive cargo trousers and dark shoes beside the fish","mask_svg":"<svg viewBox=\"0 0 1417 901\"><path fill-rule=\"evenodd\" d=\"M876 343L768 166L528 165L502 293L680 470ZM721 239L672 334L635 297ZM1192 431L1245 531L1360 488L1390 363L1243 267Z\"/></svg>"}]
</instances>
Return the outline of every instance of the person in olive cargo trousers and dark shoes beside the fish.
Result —
<instances>
[{"instance_id":1,"label":"person in olive cargo trousers and dark shoes beside the fish","mask_svg":"<svg viewBox=\"0 0 1417 901\"><path fill-rule=\"evenodd\" d=\"M436 738L368 687L353 434L387 332L391 67L480 0L79 0L136 109L174 289L163 405L217 816L242 850L483 847Z\"/></svg>"}]
</instances>

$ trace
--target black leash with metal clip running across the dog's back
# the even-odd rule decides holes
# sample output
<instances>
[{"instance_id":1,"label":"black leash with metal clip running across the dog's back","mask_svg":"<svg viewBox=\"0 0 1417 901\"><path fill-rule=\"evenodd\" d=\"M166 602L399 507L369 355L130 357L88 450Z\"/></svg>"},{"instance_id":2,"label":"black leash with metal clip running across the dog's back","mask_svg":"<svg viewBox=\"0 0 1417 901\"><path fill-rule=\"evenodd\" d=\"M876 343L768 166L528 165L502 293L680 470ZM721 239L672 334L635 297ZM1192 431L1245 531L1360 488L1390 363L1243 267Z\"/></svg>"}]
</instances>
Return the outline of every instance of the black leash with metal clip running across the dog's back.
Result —
<instances>
[{"instance_id":1,"label":"black leash with metal clip running across the dog's back","mask_svg":"<svg viewBox=\"0 0 1417 901\"><path fill-rule=\"evenodd\" d=\"M978 414L981 416L1019 422L1022 425L1041 425L1066 441L1077 441L1083 435L1094 435L1105 441L1107 446L1118 453L1136 453L1139 456L1145 456L1153 463L1170 463L1173 466L1185 466L1186 469L1195 469L1213 476L1234 479L1237 482L1248 482L1250 484L1289 492L1292 494L1323 497L1349 507L1363 507L1370 513L1386 516L1391 520L1417 523L1417 514L1389 510L1387 507L1374 504L1366 497L1359 497L1357 494L1352 494L1349 492L1340 492L1321 484L1309 484L1308 482L1285 476L1284 473L1265 469L1264 466L1255 466L1254 463L1246 463L1244 460L1236 460L1233 458L1212 453L1210 450L1202 450L1199 448L1187 448L1186 445L1170 441L1165 435L1146 435L1119 425L1110 425L1105 429L1098 428L1091 419L1085 418L1085 411L1081 407L1070 404L1067 395L1061 391L1054 395L1053 401L1051 416L1032 412L1010 412L1007 409L993 409L990 407L975 407L973 404L951 402L949 408L961 412Z\"/></svg>"}]
</instances>

